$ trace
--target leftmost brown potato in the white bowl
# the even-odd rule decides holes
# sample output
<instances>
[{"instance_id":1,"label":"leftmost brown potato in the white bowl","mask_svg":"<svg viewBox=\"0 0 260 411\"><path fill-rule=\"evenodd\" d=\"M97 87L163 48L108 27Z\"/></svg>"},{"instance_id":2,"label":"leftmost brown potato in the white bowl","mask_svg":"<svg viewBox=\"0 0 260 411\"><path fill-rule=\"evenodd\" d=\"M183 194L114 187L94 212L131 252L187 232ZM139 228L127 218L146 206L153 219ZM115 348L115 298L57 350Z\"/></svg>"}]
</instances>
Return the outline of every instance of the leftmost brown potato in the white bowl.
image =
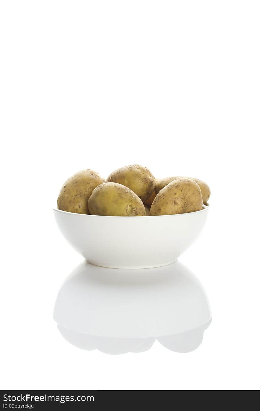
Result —
<instances>
[{"instance_id":1,"label":"leftmost brown potato in the white bowl","mask_svg":"<svg viewBox=\"0 0 260 411\"><path fill-rule=\"evenodd\" d=\"M79 214L90 214L87 201L94 188L102 182L99 173L90 169L72 175L60 190L57 200L58 209Z\"/></svg>"}]
</instances>

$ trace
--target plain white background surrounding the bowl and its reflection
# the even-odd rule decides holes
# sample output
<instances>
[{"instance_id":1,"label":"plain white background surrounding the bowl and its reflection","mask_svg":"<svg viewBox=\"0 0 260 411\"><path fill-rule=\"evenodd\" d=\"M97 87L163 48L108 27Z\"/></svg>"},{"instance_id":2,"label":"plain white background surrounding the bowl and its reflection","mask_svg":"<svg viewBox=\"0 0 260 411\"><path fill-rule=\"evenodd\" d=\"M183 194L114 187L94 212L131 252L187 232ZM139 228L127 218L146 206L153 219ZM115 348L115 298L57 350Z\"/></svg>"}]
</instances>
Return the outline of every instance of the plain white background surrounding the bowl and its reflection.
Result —
<instances>
[{"instance_id":1,"label":"plain white background surrounding the bowl and its reflection","mask_svg":"<svg viewBox=\"0 0 260 411\"><path fill-rule=\"evenodd\" d=\"M5 1L1 39L1 388L259 389L258 1ZM82 261L55 225L62 183L142 164L211 187L180 260L213 312L201 346L109 356L52 319Z\"/></svg>"}]
</instances>

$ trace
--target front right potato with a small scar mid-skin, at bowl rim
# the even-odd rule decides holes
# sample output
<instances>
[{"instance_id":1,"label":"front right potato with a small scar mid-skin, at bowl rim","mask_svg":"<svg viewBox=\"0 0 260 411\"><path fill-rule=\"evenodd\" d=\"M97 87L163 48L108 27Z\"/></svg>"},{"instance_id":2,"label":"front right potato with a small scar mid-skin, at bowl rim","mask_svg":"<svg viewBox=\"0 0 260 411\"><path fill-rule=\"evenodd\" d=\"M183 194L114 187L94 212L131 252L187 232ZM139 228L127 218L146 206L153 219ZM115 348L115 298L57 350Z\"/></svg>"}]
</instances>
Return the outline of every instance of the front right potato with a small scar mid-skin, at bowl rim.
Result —
<instances>
[{"instance_id":1,"label":"front right potato with a small scar mid-skin, at bowl rim","mask_svg":"<svg viewBox=\"0 0 260 411\"><path fill-rule=\"evenodd\" d=\"M199 185L188 178L177 178L156 195L150 215L182 214L199 211L203 201Z\"/></svg>"}]
</instances>

